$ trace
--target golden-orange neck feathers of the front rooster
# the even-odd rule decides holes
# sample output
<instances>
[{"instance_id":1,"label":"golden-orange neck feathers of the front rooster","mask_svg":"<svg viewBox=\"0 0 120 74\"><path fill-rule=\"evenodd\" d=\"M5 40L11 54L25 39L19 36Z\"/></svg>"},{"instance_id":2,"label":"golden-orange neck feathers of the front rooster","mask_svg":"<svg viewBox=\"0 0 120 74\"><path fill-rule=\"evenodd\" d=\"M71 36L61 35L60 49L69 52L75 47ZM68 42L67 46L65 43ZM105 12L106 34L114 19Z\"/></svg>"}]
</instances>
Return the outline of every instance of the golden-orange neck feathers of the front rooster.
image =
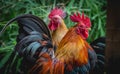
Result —
<instances>
[{"instance_id":1,"label":"golden-orange neck feathers of the front rooster","mask_svg":"<svg viewBox=\"0 0 120 74\"><path fill-rule=\"evenodd\" d=\"M56 57L64 59L66 64L83 65L88 63L89 44L71 28L61 40Z\"/></svg>"}]
</instances>

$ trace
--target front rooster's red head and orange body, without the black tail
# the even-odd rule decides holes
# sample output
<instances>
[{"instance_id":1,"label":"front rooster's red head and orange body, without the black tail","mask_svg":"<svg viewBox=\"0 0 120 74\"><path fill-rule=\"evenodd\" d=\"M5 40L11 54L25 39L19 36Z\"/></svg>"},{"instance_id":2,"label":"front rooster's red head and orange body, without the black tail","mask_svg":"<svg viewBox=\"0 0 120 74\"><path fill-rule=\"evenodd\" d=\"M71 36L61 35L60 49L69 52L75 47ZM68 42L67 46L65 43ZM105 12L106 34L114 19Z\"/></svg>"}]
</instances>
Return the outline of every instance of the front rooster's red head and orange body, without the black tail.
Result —
<instances>
[{"instance_id":1,"label":"front rooster's red head and orange body, without the black tail","mask_svg":"<svg viewBox=\"0 0 120 74\"><path fill-rule=\"evenodd\" d=\"M48 52L39 55L30 73L39 74L87 74L96 63L96 53L85 41L91 23L88 17L74 14L71 20L78 22L69 29L55 52L50 57Z\"/></svg>"}]
</instances>

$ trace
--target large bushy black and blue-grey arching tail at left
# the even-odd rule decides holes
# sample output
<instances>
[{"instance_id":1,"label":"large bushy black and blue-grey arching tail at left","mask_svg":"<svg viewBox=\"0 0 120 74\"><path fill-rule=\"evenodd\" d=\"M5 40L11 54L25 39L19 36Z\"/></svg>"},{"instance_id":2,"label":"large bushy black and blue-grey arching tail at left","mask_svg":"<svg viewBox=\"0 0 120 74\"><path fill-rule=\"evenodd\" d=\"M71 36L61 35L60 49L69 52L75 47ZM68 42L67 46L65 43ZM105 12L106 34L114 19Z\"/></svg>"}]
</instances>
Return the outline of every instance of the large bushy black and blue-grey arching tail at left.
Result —
<instances>
[{"instance_id":1,"label":"large bushy black and blue-grey arching tail at left","mask_svg":"<svg viewBox=\"0 0 120 74\"><path fill-rule=\"evenodd\" d=\"M11 19L2 29L0 35L12 22L17 21L19 34L17 35L15 50L0 73L27 74L39 57L39 53L49 52L54 55L50 31L44 21L34 15L25 14ZM18 65L17 65L18 64Z\"/></svg>"}]
</instances>

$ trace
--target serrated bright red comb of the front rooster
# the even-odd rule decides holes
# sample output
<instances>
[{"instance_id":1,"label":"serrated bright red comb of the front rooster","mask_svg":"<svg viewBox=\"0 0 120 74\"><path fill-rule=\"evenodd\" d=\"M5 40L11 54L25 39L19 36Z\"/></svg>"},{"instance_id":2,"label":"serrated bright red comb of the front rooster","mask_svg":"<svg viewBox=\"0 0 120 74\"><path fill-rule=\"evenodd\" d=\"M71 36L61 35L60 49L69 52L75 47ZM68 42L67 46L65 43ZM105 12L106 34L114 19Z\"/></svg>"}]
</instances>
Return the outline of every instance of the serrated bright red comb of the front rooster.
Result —
<instances>
[{"instance_id":1,"label":"serrated bright red comb of the front rooster","mask_svg":"<svg viewBox=\"0 0 120 74\"><path fill-rule=\"evenodd\" d=\"M82 16L80 15L80 13L77 14L74 13L73 15L70 16L70 19L73 22L83 22L87 27L91 27L90 18L85 16L84 13L82 13Z\"/></svg>"}]
</instances>

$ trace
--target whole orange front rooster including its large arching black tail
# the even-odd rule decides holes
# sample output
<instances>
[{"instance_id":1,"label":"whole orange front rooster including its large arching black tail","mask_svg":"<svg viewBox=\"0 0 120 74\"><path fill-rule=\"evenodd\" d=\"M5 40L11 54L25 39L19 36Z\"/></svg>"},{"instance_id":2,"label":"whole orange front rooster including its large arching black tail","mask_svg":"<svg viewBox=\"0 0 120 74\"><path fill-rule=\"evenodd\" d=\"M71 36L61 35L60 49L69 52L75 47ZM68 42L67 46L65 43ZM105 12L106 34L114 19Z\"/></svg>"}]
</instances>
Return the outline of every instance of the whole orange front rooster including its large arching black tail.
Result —
<instances>
[{"instance_id":1,"label":"whole orange front rooster including its large arching black tail","mask_svg":"<svg viewBox=\"0 0 120 74\"><path fill-rule=\"evenodd\" d=\"M72 16L73 20L77 20L75 16L80 15ZM85 74L95 66L96 54L84 40L88 37L88 29L84 27L90 27L85 21L79 20L78 24L67 32L56 52L50 31L42 19L30 14L18 16L10 20L1 33L14 21L17 21L19 26L17 44L5 67L1 68L1 73L26 74L29 71L41 74ZM21 58L21 66L15 68L17 56Z\"/></svg>"}]
</instances>

